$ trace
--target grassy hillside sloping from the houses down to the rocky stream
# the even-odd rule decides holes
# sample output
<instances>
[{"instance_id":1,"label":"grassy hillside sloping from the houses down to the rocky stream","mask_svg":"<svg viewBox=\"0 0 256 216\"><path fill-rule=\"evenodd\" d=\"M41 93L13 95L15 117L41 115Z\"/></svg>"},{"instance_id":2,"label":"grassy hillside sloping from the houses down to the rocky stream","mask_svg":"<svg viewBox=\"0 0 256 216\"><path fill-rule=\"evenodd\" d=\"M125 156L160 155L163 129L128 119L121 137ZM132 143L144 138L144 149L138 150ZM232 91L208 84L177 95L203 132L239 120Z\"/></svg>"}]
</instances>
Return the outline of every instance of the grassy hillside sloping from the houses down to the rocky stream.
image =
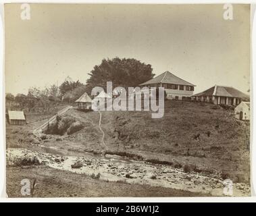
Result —
<instances>
[{"instance_id":1,"label":"grassy hillside sloping from the houses down to the rocky stream","mask_svg":"<svg viewBox=\"0 0 256 216\"><path fill-rule=\"evenodd\" d=\"M183 167L214 178L249 182L249 123L233 111L206 103L166 101L165 114L152 119L149 111L68 111L84 128L64 136L47 135L51 144L74 152L107 151L151 163ZM64 117L65 117L64 115Z\"/></svg>"}]
</instances>

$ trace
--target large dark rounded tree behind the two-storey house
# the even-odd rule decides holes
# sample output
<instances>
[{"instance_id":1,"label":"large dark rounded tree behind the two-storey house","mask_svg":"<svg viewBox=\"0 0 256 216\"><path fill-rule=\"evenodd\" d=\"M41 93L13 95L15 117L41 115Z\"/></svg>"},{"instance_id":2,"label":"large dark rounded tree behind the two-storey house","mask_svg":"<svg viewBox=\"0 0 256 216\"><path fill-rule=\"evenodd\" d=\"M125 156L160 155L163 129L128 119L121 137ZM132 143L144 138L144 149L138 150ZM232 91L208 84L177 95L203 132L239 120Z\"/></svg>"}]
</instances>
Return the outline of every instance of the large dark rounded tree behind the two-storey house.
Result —
<instances>
[{"instance_id":1,"label":"large dark rounded tree behind the two-storey house","mask_svg":"<svg viewBox=\"0 0 256 216\"><path fill-rule=\"evenodd\" d=\"M113 88L136 87L153 78L155 74L152 74L152 71L150 64L141 63L136 59L103 59L89 74L91 77L86 82L86 92L90 94L95 86L106 90L108 81L113 82Z\"/></svg>"}]
</instances>

